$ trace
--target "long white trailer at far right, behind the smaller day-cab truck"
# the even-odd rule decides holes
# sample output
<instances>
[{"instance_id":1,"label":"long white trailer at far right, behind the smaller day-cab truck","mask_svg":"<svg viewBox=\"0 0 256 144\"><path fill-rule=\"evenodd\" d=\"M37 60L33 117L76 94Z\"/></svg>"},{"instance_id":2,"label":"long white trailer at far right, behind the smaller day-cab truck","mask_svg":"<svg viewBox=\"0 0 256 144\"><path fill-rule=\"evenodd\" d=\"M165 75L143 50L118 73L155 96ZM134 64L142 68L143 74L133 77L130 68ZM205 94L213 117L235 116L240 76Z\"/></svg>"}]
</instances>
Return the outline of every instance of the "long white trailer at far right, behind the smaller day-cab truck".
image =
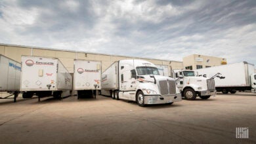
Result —
<instances>
[{"instance_id":1,"label":"long white trailer at far right, behind the smaller day-cab truck","mask_svg":"<svg viewBox=\"0 0 256 144\"><path fill-rule=\"evenodd\" d=\"M215 79L215 88L217 92L223 94L236 93L237 90L251 90L256 92L256 74L254 65L247 62L232 63L215 67L197 69L198 76L213 77L220 73L224 79Z\"/></svg>"}]
</instances>

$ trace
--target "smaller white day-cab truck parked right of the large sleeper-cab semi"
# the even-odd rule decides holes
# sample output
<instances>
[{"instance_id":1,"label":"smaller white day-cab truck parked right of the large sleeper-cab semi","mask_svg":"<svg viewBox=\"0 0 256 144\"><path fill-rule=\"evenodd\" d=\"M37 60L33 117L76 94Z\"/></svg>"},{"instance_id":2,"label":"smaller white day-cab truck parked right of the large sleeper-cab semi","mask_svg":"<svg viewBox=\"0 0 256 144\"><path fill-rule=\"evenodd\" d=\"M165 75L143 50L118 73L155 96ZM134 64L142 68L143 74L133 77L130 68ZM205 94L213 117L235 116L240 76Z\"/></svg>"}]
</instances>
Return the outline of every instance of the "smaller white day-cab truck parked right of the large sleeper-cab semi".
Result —
<instances>
[{"instance_id":1,"label":"smaller white day-cab truck parked right of the large sleeper-cab semi","mask_svg":"<svg viewBox=\"0 0 256 144\"><path fill-rule=\"evenodd\" d=\"M214 79L197 77L195 71L191 70L173 70L173 74L185 99L194 100L197 96L208 99L216 94Z\"/></svg>"}]
</instances>

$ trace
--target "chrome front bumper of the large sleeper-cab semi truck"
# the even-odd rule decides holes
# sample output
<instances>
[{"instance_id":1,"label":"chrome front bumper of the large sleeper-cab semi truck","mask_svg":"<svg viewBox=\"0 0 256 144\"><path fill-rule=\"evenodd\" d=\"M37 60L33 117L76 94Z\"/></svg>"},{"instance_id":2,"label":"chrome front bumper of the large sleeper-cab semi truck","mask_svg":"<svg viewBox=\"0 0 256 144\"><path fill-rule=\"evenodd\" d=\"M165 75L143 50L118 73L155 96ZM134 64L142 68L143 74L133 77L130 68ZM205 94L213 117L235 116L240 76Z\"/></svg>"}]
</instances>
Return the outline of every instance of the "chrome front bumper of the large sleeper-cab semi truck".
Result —
<instances>
[{"instance_id":1,"label":"chrome front bumper of the large sleeper-cab semi truck","mask_svg":"<svg viewBox=\"0 0 256 144\"><path fill-rule=\"evenodd\" d=\"M144 96L144 104L162 104L181 101L181 94L171 96L146 95Z\"/></svg>"}]
</instances>

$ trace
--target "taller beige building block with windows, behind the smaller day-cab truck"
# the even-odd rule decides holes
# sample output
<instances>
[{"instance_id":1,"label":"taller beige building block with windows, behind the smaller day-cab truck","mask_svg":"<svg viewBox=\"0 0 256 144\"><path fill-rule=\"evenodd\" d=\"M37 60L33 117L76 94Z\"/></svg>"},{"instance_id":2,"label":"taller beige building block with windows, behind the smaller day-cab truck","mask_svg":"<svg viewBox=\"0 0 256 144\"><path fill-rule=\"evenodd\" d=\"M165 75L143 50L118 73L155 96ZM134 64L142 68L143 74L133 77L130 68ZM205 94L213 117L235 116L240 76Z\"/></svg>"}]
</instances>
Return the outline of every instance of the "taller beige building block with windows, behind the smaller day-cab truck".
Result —
<instances>
[{"instance_id":1,"label":"taller beige building block with windows, behind the smaller day-cab truck","mask_svg":"<svg viewBox=\"0 0 256 144\"><path fill-rule=\"evenodd\" d=\"M217 58L200 54L192 54L183 58L183 69L194 70L218 65L226 65L226 58Z\"/></svg>"}]
</instances>

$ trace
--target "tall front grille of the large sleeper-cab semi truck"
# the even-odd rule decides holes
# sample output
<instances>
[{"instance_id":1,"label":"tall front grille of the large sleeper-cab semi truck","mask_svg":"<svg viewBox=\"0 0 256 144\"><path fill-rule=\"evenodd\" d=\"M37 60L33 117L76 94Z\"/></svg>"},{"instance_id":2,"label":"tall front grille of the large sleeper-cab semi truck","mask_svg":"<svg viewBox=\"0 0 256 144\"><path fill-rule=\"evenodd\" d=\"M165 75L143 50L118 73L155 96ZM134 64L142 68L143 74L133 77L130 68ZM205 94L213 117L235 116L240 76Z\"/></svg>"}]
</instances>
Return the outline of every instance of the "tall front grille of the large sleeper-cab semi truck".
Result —
<instances>
[{"instance_id":1,"label":"tall front grille of the large sleeper-cab semi truck","mask_svg":"<svg viewBox=\"0 0 256 144\"><path fill-rule=\"evenodd\" d=\"M176 94L175 81L159 81L161 95Z\"/></svg>"}]
</instances>

